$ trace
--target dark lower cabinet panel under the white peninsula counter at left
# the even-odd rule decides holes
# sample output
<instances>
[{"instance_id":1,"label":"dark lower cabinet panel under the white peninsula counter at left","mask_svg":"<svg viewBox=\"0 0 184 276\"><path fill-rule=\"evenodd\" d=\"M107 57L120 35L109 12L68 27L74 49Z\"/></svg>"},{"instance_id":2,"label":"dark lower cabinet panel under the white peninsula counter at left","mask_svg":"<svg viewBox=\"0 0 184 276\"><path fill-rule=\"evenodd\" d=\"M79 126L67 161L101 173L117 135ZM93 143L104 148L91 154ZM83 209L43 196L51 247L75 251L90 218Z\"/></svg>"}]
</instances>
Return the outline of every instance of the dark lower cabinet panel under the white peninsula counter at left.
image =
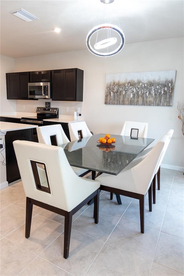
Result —
<instances>
[{"instance_id":1,"label":"dark lower cabinet panel under the white peninsula counter at left","mask_svg":"<svg viewBox=\"0 0 184 276\"><path fill-rule=\"evenodd\" d=\"M20 179L19 168L14 151L13 141L15 140L33 140L32 129L21 129L15 131L7 131L5 135L5 149L6 149L6 179L8 183Z\"/></svg>"}]
</instances>

